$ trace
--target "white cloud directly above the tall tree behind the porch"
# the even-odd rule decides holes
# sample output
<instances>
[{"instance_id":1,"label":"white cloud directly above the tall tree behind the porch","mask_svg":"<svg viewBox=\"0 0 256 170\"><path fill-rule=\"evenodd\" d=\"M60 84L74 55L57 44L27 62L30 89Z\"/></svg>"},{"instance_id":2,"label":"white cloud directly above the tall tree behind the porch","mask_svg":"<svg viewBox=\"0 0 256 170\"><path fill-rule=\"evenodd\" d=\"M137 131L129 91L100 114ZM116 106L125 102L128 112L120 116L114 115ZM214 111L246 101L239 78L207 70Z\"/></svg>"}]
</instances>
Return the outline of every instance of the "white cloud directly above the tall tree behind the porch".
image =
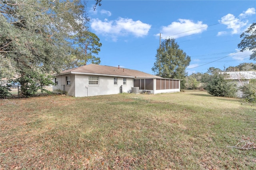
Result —
<instances>
[{"instance_id":1,"label":"white cloud directly above the tall tree behind the porch","mask_svg":"<svg viewBox=\"0 0 256 170\"><path fill-rule=\"evenodd\" d=\"M172 22L172 24L162 27L160 32L163 38L180 38L200 34L208 28L207 24L202 24L202 21L196 23L186 19L178 19L178 21L179 22ZM159 34L156 36L159 36Z\"/></svg>"}]
</instances>

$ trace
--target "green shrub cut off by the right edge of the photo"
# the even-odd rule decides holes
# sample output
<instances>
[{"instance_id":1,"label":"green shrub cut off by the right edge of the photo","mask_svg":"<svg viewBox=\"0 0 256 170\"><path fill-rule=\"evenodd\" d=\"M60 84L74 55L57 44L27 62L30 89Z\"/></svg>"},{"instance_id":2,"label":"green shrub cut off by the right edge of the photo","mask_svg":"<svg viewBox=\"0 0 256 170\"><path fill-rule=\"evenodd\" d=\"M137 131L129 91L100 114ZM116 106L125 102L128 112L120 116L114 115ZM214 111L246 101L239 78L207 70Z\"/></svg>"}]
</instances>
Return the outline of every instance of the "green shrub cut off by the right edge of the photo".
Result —
<instances>
[{"instance_id":1,"label":"green shrub cut off by the right edge of the photo","mask_svg":"<svg viewBox=\"0 0 256 170\"><path fill-rule=\"evenodd\" d=\"M241 86L240 90L243 92L246 101L256 103L256 79L252 79L250 83Z\"/></svg>"}]
</instances>

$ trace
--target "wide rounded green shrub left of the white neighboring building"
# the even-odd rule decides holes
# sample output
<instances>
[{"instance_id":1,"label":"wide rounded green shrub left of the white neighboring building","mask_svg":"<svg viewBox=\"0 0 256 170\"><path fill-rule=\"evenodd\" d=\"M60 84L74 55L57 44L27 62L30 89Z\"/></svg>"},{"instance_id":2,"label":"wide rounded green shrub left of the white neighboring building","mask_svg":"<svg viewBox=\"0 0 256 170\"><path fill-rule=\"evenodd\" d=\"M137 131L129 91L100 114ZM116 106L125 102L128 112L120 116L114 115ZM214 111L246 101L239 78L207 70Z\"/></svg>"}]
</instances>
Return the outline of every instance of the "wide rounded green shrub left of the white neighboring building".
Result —
<instances>
[{"instance_id":1,"label":"wide rounded green shrub left of the white neighboring building","mask_svg":"<svg viewBox=\"0 0 256 170\"><path fill-rule=\"evenodd\" d=\"M210 95L218 97L236 97L238 91L236 84L225 79L226 75L214 74L211 81L206 85L206 91Z\"/></svg>"}]
</instances>

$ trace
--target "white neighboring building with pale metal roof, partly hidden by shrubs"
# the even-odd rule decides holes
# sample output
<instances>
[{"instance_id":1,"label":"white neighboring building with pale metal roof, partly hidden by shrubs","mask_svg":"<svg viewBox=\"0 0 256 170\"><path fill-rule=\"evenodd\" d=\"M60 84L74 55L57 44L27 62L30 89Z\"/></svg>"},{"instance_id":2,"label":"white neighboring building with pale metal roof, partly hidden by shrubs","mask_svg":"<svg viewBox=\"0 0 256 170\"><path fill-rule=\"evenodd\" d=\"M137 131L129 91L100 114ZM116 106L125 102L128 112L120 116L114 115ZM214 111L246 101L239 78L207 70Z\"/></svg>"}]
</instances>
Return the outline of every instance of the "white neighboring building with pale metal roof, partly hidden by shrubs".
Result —
<instances>
[{"instance_id":1,"label":"white neighboring building with pale metal roof, partly hidden by shrubs","mask_svg":"<svg viewBox=\"0 0 256 170\"><path fill-rule=\"evenodd\" d=\"M256 79L256 71L228 71L220 72L220 74L227 74L228 77L226 79L236 83L238 87L245 83L250 83L250 79ZM238 91L237 95L242 97L243 94L241 91Z\"/></svg>"}]
</instances>

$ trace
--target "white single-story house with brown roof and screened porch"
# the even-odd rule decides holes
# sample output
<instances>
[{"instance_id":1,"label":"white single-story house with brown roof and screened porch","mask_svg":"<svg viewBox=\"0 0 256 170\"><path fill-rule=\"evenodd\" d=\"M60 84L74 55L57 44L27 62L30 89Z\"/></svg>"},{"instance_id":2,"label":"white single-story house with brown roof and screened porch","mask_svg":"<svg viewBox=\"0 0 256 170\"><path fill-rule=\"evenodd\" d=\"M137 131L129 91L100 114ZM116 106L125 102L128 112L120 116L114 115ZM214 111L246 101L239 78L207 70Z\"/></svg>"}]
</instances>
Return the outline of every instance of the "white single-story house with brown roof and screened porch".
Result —
<instances>
[{"instance_id":1,"label":"white single-story house with brown roof and screened porch","mask_svg":"<svg viewBox=\"0 0 256 170\"><path fill-rule=\"evenodd\" d=\"M74 97L118 93L173 93L180 91L180 79L166 79L133 69L89 64L54 75L53 93Z\"/></svg>"}]
</instances>

